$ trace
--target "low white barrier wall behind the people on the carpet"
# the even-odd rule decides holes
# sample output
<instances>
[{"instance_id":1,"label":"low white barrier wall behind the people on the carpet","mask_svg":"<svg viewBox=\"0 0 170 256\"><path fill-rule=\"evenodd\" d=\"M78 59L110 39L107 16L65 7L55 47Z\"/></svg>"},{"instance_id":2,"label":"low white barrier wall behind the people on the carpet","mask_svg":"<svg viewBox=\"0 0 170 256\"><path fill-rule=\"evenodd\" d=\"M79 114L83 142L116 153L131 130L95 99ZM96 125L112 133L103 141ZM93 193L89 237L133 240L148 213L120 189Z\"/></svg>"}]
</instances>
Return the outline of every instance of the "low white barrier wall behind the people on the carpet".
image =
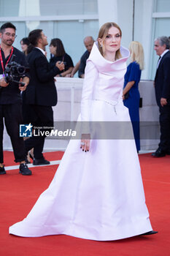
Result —
<instances>
[{"instance_id":1,"label":"low white barrier wall behind the people on the carpet","mask_svg":"<svg viewBox=\"0 0 170 256\"><path fill-rule=\"evenodd\" d=\"M54 121L76 121L80 113L80 101L82 94L81 78L55 78L55 86L58 91L58 104L53 107ZM140 121L158 121L158 107L155 102L155 90L152 81L142 80L139 83L139 91L142 97L143 106L140 108ZM159 127L150 127L152 132L157 134ZM156 136L156 135L155 135ZM68 140L45 140L45 151L64 150ZM141 148L152 150L157 148L158 140L141 140ZM12 146L4 131L4 150L12 150Z\"/></svg>"}]
</instances>

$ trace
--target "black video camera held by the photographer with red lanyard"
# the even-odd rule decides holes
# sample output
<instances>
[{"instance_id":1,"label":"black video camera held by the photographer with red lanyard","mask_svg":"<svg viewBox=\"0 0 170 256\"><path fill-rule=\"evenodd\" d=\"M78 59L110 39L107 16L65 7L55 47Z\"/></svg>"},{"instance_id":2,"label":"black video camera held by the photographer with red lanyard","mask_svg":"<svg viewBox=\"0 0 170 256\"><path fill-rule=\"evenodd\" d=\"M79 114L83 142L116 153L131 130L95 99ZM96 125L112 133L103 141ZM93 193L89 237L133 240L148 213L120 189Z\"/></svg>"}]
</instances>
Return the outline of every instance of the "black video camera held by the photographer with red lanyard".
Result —
<instances>
[{"instance_id":1,"label":"black video camera held by the photographer with red lanyard","mask_svg":"<svg viewBox=\"0 0 170 256\"><path fill-rule=\"evenodd\" d=\"M15 82L15 83L20 83L20 86L24 86L25 83L20 82L16 79L24 78L26 75L26 72L29 71L29 68L21 66L14 60L15 60L15 55L13 54L11 60L9 61L9 63L4 69L4 80L6 81L6 83Z\"/></svg>"}]
</instances>

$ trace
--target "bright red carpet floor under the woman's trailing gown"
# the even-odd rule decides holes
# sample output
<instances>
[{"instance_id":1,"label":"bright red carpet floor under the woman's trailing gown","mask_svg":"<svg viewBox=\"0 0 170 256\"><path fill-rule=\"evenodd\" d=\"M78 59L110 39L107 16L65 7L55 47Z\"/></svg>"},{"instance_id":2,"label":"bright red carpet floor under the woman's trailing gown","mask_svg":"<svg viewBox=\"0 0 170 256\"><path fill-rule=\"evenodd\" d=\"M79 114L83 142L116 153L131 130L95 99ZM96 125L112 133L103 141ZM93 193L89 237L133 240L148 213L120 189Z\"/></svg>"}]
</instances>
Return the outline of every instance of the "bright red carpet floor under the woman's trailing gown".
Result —
<instances>
[{"instance_id":1,"label":"bright red carpet floor under the woman's trailing gown","mask_svg":"<svg viewBox=\"0 0 170 256\"><path fill-rule=\"evenodd\" d=\"M48 160L61 159L63 152L45 153ZM158 234L121 241L88 241L70 236L20 238L8 234L8 227L20 221L50 184L57 165L33 167L32 176L8 170L0 176L1 256L169 256L170 255L170 156L153 159L139 155L150 220ZM6 166L14 165L12 152L5 152Z\"/></svg>"}]
</instances>

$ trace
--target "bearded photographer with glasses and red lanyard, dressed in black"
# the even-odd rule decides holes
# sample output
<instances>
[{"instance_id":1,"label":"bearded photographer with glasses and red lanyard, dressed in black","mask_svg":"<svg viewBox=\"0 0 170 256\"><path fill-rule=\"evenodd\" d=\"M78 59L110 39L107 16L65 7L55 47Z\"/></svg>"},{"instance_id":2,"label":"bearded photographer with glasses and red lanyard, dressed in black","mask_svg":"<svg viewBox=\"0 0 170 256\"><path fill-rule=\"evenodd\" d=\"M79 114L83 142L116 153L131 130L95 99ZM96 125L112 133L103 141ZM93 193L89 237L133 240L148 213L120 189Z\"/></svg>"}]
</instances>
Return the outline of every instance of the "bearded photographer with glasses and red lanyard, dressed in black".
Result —
<instances>
[{"instance_id":1,"label":"bearded photographer with glasses and red lanyard, dressed in black","mask_svg":"<svg viewBox=\"0 0 170 256\"><path fill-rule=\"evenodd\" d=\"M24 84L16 83L5 77L5 69L10 63L12 56L15 55L15 61L26 67L26 59L20 50L12 46L15 41L16 28L12 23L4 23L1 26L0 38L0 174L5 174L4 156L3 156L3 132L4 122L7 133L12 142L12 148L15 155L15 162L20 162L20 173L25 176L31 175L25 162L25 147L23 138L19 137L19 128L22 124L22 110L20 91L25 91L29 83L29 75L26 73L24 78L18 76L15 80L22 81ZM4 120L3 120L4 119Z\"/></svg>"}]
</instances>

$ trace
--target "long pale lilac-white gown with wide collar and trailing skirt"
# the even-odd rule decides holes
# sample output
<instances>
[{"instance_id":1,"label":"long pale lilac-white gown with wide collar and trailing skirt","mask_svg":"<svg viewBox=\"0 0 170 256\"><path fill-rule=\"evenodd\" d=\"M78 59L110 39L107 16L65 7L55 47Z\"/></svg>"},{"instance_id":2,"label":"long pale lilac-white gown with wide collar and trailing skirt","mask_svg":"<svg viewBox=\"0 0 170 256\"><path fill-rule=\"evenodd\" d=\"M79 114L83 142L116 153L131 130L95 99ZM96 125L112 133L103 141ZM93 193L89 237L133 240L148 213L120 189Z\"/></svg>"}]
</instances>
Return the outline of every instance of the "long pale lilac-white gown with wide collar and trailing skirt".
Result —
<instances>
[{"instance_id":1,"label":"long pale lilac-white gown with wide collar and trailing skirt","mask_svg":"<svg viewBox=\"0 0 170 256\"><path fill-rule=\"evenodd\" d=\"M94 43L85 69L79 120L130 121L122 100L129 52L120 50L122 59L107 61ZM9 227L16 236L66 234L98 241L150 230L134 139L92 139L86 153L80 140L70 140L50 187L26 219Z\"/></svg>"}]
</instances>

